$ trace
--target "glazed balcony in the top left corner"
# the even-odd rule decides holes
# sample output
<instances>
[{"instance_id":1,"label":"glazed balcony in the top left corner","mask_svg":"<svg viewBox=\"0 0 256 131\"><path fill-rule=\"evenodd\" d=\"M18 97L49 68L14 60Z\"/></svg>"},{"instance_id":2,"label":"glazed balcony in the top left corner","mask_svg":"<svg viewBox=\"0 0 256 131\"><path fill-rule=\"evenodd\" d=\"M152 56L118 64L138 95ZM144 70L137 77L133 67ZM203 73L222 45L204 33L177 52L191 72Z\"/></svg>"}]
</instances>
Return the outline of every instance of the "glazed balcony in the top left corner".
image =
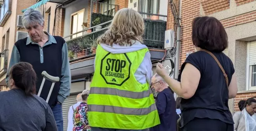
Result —
<instances>
[{"instance_id":1,"label":"glazed balcony in the top left corner","mask_svg":"<svg viewBox=\"0 0 256 131\"><path fill-rule=\"evenodd\" d=\"M4 0L2 5L0 5L0 27L7 22L8 18L12 13L12 0Z\"/></svg>"}]
</instances>

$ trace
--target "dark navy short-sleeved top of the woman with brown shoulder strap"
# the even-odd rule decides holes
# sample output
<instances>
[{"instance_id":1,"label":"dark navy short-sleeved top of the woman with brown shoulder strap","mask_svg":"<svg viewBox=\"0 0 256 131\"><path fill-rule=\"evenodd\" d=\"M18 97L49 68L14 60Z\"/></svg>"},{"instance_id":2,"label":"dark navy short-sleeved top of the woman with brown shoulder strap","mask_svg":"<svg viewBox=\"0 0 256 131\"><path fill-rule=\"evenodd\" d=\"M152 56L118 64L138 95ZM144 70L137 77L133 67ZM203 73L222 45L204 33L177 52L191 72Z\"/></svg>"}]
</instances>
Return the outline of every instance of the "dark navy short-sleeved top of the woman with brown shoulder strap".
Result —
<instances>
[{"instance_id":1,"label":"dark navy short-sleeved top of the woman with brown shoulder strap","mask_svg":"<svg viewBox=\"0 0 256 131\"><path fill-rule=\"evenodd\" d=\"M212 53L228 75L229 85L235 72L232 61L222 52ZM204 51L190 54L182 64L178 81L186 63L196 67L201 73L201 78L194 96L190 99L182 99L180 103L182 126L194 118L219 119L225 123L234 124L228 107L228 88L225 77L214 58Z\"/></svg>"}]
</instances>

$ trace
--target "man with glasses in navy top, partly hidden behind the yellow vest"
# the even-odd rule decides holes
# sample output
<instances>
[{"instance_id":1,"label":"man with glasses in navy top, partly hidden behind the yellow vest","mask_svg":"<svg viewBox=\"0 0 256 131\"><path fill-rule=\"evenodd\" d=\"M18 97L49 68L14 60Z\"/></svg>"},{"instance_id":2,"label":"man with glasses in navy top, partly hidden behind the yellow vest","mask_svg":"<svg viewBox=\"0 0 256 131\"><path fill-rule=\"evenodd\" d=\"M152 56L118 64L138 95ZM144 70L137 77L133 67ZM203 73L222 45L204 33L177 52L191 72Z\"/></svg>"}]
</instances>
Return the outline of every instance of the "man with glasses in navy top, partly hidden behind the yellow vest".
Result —
<instances>
[{"instance_id":1,"label":"man with glasses in navy top, partly hidden behind the yellow vest","mask_svg":"<svg viewBox=\"0 0 256 131\"><path fill-rule=\"evenodd\" d=\"M168 88L168 84L158 74L152 77L151 82L151 87L158 92L156 107L161 124L150 128L150 131L176 131L176 102L171 89Z\"/></svg>"}]
</instances>

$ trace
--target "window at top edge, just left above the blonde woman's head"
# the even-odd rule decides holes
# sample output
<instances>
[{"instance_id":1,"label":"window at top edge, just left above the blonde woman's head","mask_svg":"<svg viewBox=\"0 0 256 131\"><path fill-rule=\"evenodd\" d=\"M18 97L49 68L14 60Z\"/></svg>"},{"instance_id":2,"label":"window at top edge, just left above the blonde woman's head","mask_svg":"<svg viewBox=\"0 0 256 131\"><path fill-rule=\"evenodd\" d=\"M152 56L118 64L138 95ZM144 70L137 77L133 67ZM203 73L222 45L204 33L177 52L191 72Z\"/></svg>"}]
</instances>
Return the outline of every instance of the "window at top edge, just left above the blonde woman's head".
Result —
<instances>
[{"instance_id":1,"label":"window at top edge, just left above the blonde woman's head","mask_svg":"<svg viewBox=\"0 0 256 131\"><path fill-rule=\"evenodd\" d=\"M100 13L114 16L115 0L103 0L100 2Z\"/></svg>"}]
</instances>

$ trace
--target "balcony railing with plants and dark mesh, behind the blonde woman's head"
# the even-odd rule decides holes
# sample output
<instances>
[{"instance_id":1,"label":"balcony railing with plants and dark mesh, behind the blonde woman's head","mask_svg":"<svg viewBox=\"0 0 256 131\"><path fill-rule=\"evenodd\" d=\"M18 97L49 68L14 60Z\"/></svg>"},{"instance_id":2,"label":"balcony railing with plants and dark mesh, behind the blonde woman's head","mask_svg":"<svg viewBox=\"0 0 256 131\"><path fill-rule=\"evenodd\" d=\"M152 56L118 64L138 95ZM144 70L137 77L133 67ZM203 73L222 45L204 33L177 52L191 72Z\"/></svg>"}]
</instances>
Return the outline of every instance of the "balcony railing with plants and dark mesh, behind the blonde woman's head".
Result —
<instances>
[{"instance_id":1,"label":"balcony railing with plants and dark mesh, behind the blonde woman's head","mask_svg":"<svg viewBox=\"0 0 256 131\"><path fill-rule=\"evenodd\" d=\"M151 14L155 15L155 14ZM95 55L96 39L104 34L112 20L95 25L80 32L64 37L69 50L70 62ZM145 32L143 35L144 44L153 49L164 49L164 34L166 22L164 20L144 19ZM98 27L104 27L97 29ZM84 35L72 38L73 35L83 33Z\"/></svg>"}]
</instances>

